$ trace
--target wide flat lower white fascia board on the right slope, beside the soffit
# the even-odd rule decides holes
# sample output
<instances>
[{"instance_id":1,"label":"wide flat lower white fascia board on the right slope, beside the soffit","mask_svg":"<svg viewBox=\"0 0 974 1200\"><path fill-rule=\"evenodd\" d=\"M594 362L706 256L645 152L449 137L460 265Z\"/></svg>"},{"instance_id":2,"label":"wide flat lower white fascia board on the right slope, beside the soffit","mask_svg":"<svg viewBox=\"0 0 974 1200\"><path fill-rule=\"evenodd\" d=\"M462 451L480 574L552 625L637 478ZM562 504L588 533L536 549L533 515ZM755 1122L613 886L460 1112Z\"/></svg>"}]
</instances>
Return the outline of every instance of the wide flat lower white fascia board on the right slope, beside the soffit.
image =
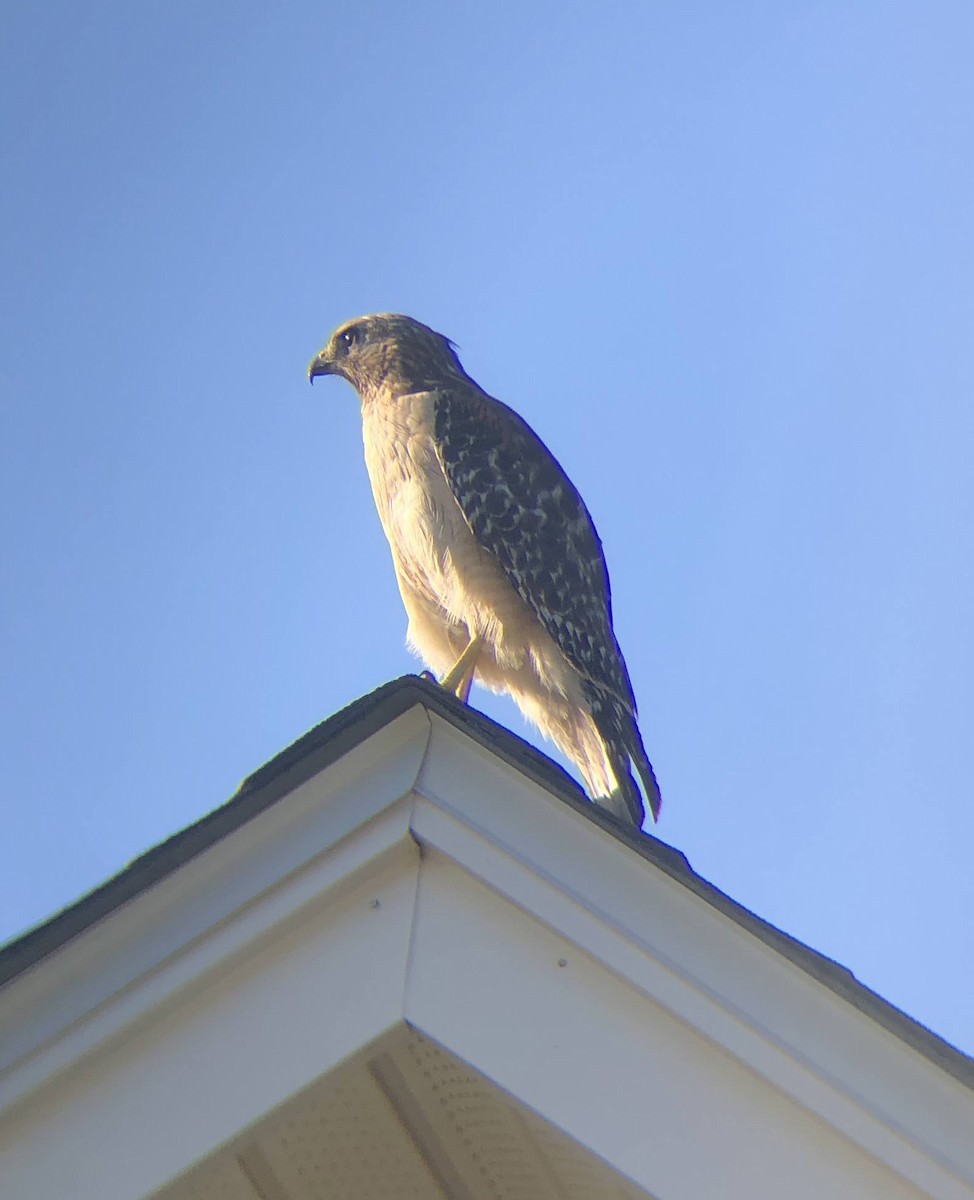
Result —
<instances>
[{"instance_id":1,"label":"wide flat lower white fascia board on the right slope, beside the soffit","mask_svg":"<svg viewBox=\"0 0 974 1200\"><path fill-rule=\"evenodd\" d=\"M919 1200L573 940L444 856L423 857L409 1024L650 1195Z\"/></svg>"}]
</instances>

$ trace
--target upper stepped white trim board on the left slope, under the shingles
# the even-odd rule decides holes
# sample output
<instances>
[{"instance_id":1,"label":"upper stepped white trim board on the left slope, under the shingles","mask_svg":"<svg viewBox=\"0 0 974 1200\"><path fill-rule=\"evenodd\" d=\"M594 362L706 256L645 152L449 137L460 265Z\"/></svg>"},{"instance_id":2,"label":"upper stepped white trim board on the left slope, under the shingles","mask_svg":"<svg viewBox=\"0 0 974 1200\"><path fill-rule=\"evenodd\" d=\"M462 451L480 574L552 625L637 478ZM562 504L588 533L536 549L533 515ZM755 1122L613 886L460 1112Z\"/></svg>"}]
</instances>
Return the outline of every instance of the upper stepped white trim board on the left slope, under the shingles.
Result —
<instances>
[{"instance_id":1,"label":"upper stepped white trim board on the left slope, under the shingles","mask_svg":"<svg viewBox=\"0 0 974 1200\"><path fill-rule=\"evenodd\" d=\"M0 1112L408 839L403 803L343 845L410 794L428 739L415 707L7 984Z\"/></svg>"}]
</instances>

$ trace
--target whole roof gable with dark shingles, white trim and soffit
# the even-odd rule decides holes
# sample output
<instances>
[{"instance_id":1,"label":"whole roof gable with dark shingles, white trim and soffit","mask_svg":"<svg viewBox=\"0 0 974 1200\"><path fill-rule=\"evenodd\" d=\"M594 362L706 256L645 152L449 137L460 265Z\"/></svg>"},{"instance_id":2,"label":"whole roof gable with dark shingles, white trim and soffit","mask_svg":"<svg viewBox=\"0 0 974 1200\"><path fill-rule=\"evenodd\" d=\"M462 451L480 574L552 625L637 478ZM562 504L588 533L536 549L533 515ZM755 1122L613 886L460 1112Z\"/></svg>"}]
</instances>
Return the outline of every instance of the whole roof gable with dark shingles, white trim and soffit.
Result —
<instances>
[{"instance_id":1,"label":"whole roof gable with dark shingles, white trim and soffit","mask_svg":"<svg viewBox=\"0 0 974 1200\"><path fill-rule=\"evenodd\" d=\"M0 965L11 1194L974 1200L968 1060L415 679Z\"/></svg>"}]
</instances>

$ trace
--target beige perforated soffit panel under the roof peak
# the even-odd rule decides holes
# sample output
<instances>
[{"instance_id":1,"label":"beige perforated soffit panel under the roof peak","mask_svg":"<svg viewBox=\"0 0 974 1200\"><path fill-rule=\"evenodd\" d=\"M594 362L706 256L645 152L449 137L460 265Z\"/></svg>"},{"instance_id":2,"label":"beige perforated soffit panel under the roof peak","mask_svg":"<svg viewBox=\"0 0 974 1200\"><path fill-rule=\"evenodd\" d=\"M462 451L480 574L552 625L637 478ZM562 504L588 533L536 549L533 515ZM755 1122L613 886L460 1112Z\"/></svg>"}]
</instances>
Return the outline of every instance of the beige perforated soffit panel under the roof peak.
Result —
<instances>
[{"instance_id":1,"label":"beige perforated soffit panel under the roof peak","mask_svg":"<svg viewBox=\"0 0 974 1200\"><path fill-rule=\"evenodd\" d=\"M648 1193L403 1027L156 1200L638 1200Z\"/></svg>"}]
</instances>

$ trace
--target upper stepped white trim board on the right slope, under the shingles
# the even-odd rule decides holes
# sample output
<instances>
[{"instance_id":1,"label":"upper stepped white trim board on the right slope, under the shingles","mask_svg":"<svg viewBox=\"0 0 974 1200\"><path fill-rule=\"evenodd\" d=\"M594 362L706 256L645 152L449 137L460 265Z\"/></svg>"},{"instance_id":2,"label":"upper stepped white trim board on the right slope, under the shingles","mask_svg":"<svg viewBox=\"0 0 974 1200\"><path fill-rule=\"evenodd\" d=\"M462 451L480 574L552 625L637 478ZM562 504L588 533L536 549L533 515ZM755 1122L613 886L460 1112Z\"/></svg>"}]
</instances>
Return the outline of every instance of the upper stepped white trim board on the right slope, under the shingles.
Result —
<instances>
[{"instance_id":1,"label":"upper stepped white trim board on the right slope, under the shingles","mask_svg":"<svg viewBox=\"0 0 974 1200\"><path fill-rule=\"evenodd\" d=\"M422 844L927 1194L974 1196L974 1092L619 839L432 720L417 782L432 803L414 810ZM591 1037L596 1022L612 1019L611 1009L593 1012Z\"/></svg>"}]
</instances>

